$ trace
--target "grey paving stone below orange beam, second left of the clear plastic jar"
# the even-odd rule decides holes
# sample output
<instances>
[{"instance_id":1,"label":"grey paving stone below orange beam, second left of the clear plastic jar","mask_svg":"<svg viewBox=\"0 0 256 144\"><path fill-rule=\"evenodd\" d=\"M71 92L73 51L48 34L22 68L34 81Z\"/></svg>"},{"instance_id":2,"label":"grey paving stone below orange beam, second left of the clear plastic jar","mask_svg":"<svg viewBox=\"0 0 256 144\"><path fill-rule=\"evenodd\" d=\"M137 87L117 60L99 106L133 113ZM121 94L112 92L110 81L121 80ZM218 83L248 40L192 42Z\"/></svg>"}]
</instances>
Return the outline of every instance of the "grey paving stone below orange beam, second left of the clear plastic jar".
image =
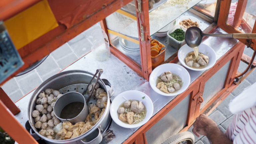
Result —
<instances>
[{"instance_id":1,"label":"grey paving stone below orange beam, second left of the clear plastic jar","mask_svg":"<svg viewBox=\"0 0 256 144\"><path fill-rule=\"evenodd\" d=\"M62 45L59 48L57 48L56 50L54 50L51 54L53 55L53 57L56 60L59 60L72 52L73 51L72 51L71 47L69 46L69 44L65 43L64 45Z\"/></svg>"}]
</instances>

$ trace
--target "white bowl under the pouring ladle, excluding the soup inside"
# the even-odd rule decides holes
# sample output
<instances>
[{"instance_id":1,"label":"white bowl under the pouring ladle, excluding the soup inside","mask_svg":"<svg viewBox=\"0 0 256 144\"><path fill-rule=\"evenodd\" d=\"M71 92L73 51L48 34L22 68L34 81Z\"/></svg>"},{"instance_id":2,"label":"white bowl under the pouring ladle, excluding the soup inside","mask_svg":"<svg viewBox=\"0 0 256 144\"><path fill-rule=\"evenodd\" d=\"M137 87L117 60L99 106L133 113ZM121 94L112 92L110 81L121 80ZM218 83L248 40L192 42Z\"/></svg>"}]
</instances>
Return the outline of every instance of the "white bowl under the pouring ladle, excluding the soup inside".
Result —
<instances>
[{"instance_id":1,"label":"white bowl under the pouring ladle, excluding the soup inside","mask_svg":"<svg viewBox=\"0 0 256 144\"><path fill-rule=\"evenodd\" d=\"M194 71L203 71L203 70L207 70L207 69L213 67L214 64L216 63L216 59L217 59L217 58L216 58L216 53L215 53L215 51L214 51L211 47L209 47L208 45L201 43L201 44L198 46L198 51L201 52L201 53L203 53L203 54L205 54L205 55L208 55L208 57L209 57L209 64L208 64L206 67L202 68L202 69L194 69L194 68L191 68L191 67L187 66L186 63L185 63L185 61L184 61L184 58L186 58L186 55L187 55L189 52L191 52L191 51L193 51L193 49L192 49L191 47L189 47L187 44L185 44L184 46L182 46L182 47L179 49L179 52L178 52L178 59L179 59L180 63L181 63L184 67L186 67L186 68L188 68L188 69L191 69L191 70L194 70ZM208 54L207 54L207 53L208 53Z\"/></svg>"}]
</instances>

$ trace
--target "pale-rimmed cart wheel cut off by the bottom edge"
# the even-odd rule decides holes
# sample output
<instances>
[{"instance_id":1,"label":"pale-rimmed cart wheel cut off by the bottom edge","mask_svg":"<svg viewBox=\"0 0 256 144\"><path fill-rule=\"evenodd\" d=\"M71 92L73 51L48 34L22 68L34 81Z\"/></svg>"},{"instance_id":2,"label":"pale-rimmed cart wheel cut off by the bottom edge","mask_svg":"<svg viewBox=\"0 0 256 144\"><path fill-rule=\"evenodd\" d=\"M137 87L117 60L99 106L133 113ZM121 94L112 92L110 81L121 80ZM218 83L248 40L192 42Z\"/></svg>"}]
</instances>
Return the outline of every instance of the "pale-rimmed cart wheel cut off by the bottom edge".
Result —
<instances>
[{"instance_id":1,"label":"pale-rimmed cart wheel cut off by the bottom edge","mask_svg":"<svg viewBox=\"0 0 256 144\"><path fill-rule=\"evenodd\" d=\"M162 144L178 144L182 141L187 141L187 144L194 144L195 136L191 132L185 131L168 138Z\"/></svg>"}]
</instances>

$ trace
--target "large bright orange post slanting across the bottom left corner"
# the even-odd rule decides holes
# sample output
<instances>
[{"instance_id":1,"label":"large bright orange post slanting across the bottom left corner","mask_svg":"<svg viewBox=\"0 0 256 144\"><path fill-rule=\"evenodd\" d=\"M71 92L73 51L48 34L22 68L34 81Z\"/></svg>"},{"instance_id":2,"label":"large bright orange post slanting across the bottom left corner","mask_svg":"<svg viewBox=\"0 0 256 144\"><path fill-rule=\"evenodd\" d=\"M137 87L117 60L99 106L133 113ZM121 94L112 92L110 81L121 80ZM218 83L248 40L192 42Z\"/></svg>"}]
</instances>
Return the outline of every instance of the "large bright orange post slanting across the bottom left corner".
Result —
<instances>
[{"instance_id":1,"label":"large bright orange post slanting across the bottom left corner","mask_svg":"<svg viewBox=\"0 0 256 144\"><path fill-rule=\"evenodd\" d=\"M0 100L0 127L19 144L38 144Z\"/></svg>"}]
</instances>

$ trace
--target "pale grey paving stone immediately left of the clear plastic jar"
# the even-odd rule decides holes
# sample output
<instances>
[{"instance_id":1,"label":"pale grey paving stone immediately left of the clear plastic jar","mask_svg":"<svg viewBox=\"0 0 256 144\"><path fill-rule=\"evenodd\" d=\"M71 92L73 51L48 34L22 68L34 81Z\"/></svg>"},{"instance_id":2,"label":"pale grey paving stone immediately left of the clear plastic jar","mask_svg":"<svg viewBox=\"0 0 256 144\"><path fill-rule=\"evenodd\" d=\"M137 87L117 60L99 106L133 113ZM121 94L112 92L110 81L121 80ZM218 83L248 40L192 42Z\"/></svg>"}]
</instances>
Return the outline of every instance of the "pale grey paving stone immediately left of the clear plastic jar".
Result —
<instances>
[{"instance_id":1,"label":"pale grey paving stone immediately left of the clear plastic jar","mask_svg":"<svg viewBox=\"0 0 256 144\"><path fill-rule=\"evenodd\" d=\"M79 57L82 57L83 55L91 51L92 43L88 38L85 38L71 45L71 47Z\"/></svg>"}]
</instances>

